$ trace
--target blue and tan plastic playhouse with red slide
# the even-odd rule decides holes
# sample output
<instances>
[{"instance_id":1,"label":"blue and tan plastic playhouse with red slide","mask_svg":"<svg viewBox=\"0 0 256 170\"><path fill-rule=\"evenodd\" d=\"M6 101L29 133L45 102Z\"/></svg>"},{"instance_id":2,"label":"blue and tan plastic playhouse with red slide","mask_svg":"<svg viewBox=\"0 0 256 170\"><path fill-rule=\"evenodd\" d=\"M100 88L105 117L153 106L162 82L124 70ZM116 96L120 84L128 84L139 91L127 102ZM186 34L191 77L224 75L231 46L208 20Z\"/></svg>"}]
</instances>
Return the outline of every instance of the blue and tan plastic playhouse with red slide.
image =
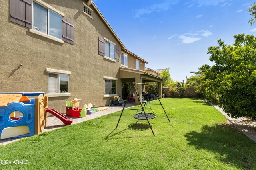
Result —
<instances>
[{"instance_id":1,"label":"blue and tan plastic playhouse with red slide","mask_svg":"<svg viewBox=\"0 0 256 170\"><path fill-rule=\"evenodd\" d=\"M37 97L30 99L28 96ZM58 117L65 125L73 123L73 119L48 108L48 98L44 92L0 93L0 140L42 133L47 113Z\"/></svg>"}]
</instances>

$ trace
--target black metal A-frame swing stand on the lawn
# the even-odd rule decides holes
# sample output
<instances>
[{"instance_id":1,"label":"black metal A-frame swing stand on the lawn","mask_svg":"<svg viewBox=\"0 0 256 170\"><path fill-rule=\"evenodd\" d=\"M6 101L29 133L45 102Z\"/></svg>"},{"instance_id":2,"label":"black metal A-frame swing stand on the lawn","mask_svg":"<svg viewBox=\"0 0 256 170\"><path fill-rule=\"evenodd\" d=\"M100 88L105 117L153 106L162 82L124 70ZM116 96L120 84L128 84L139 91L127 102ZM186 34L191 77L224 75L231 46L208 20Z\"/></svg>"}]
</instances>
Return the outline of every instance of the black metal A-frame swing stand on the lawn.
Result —
<instances>
[{"instance_id":1,"label":"black metal A-frame swing stand on the lawn","mask_svg":"<svg viewBox=\"0 0 256 170\"><path fill-rule=\"evenodd\" d=\"M133 84L133 87L134 87L134 89L135 89L136 96L137 96L137 98L138 98L139 106L140 106L141 109L128 109L128 108L125 108L126 103L127 103L127 102L125 102L124 107L123 107L122 112L121 112L121 115L120 115L120 117L119 117L118 123L117 123L117 125L116 125L116 128L118 127L118 124L119 124L119 122L120 122L120 119L121 119L121 117L122 117L122 114L123 114L123 112L124 112L124 109L126 109L126 110L136 110L137 112L136 112L135 114L137 114L138 111L142 111L141 114L144 113L144 115L145 115L145 117L146 117L146 120L148 121L148 125L149 125L149 127L150 127L150 129L151 129L153 135L155 136L154 131L153 131L153 129L152 129L150 123L149 123L148 116L147 116L147 114L146 114L146 112L145 112L145 106L146 106L146 104L147 104L147 98L146 98L146 102L145 102L144 106L142 106L142 101L140 101L140 96L139 96L139 94L138 94L138 85L149 85L149 86L150 86L150 90L151 90L151 88L153 87L154 92L155 92L155 95L157 96L158 101L160 102L160 104L152 104L152 105L161 105L162 108L163 108L163 110L164 110L164 107L163 107L163 105L162 105L162 103L161 103L161 101L160 101L160 98L158 97L158 95L157 95L157 93L156 93L156 89L154 88L153 84L146 84L146 83L132 83L132 84ZM136 87L135 87L135 84L137 84L137 89L136 89ZM131 88L130 88L130 90L129 90L129 97L130 97L130 95L131 95L131 94L130 94L130 93L131 93L131 90L132 90L132 86L131 86ZM149 90L149 92L150 92L150 90ZM138 108L139 108L139 106L138 106ZM150 104L150 108L151 108L151 104ZM152 110L152 109L151 109L151 110ZM165 115L166 115L168 121L170 122L170 119L169 119L168 115L166 114L165 110L164 110L164 113L165 113ZM153 112L153 114L154 114L154 112ZM154 114L154 115L155 115L155 114ZM135 118L135 117L134 117L134 118ZM154 117L154 118L155 118L155 117ZM153 119L153 118L152 118L152 119Z\"/></svg>"}]
</instances>

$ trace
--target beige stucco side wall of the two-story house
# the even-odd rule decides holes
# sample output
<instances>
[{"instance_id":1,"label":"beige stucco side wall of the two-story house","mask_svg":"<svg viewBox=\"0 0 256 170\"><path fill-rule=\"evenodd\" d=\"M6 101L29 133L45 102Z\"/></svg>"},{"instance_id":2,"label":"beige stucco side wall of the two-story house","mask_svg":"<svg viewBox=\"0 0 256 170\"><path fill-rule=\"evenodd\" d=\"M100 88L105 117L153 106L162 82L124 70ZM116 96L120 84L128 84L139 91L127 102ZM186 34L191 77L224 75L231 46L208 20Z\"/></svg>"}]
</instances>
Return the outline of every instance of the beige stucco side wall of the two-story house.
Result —
<instances>
[{"instance_id":1,"label":"beige stucco side wall of the two-story house","mask_svg":"<svg viewBox=\"0 0 256 170\"><path fill-rule=\"evenodd\" d=\"M84 14L82 0L44 0L74 21L74 45L40 37L9 21L9 3L0 1L0 92L48 92L46 68L70 71L70 97L48 98L48 106L65 112L65 101L82 98L80 107L88 102L98 106L109 104L104 98L104 76L119 78L119 62L98 55L98 37L106 37L121 49L117 39L93 9L92 17ZM92 8L92 6L90 6ZM113 16L114 17L114 16ZM121 53L120 53L121 54ZM18 69L19 64L23 64ZM117 81L121 96L121 80Z\"/></svg>"}]
</instances>

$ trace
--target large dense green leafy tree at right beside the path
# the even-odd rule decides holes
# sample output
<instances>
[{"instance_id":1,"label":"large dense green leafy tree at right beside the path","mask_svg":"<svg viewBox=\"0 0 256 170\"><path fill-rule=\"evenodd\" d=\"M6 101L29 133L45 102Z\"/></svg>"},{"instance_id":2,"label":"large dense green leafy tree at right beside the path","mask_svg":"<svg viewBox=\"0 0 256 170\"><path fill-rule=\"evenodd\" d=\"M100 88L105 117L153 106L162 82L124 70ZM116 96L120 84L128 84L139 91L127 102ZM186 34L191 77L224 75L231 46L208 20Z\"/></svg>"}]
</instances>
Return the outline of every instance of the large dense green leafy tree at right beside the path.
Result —
<instances>
[{"instance_id":1,"label":"large dense green leafy tree at right beside the path","mask_svg":"<svg viewBox=\"0 0 256 170\"><path fill-rule=\"evenodd\" d=\"M219 106L229 116L256 116L256 37L239 34L234 44L221 39L208 48L213 66L201 67L205 92L218 94Z\"/></svg>"}]
</instances>

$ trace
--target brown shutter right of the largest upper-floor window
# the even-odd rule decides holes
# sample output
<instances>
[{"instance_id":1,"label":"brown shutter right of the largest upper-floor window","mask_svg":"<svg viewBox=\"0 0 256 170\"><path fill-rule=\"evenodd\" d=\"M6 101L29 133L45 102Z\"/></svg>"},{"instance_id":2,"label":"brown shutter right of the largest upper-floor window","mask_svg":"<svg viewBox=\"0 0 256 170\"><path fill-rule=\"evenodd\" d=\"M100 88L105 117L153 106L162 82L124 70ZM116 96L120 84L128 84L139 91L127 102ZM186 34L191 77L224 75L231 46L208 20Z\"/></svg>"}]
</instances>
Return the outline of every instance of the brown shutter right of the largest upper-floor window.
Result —
<instances>
[{"instance_id":1,"label":"brown shutter right of the largest upper-floor window","mask_svg":"<svg viewBox=\"0 0 256 170\"><path fill-rule=\"evenodd\" d=\"M74 22L62 17L62 40L74 44Z\"/></svg>"}]
</instances>

